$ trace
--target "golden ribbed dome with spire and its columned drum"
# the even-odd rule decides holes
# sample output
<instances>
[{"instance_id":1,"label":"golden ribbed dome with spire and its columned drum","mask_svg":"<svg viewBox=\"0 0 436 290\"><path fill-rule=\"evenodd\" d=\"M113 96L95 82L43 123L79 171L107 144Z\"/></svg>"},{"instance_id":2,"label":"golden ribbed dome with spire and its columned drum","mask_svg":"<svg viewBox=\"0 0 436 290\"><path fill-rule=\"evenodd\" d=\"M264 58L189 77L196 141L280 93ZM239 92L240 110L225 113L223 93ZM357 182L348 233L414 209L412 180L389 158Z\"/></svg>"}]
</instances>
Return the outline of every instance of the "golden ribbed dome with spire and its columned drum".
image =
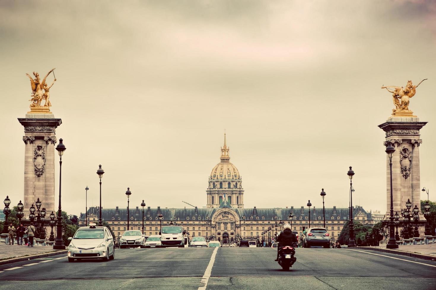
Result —
<instances>
[{"instance_id":1,"label":"golden ribbed dome with spire and its columned drum","mask_svg":"<svg viewBox=\"0 0 436 290\"><path fill-rule=\"evenodd\" d=\"M230 148L227 147L225 133L224 146L221 147L220 163L215 165L209 176L206 190L206 207L244 207L244 190L238 169L230 163Z\"/></svg>"}]
</instances>

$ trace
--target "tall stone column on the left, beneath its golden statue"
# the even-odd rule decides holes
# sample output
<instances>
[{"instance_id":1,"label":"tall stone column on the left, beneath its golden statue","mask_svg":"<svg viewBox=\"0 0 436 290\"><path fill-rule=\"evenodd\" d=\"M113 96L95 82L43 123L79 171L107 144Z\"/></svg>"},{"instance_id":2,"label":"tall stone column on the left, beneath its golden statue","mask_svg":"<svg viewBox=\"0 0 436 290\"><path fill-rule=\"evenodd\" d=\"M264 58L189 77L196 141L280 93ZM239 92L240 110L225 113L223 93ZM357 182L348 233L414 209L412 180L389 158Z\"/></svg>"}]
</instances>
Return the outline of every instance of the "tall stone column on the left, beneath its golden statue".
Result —
<instances>
[{"instance_id":1,"label":"tall stone column on the left, beneath its golden statue","mask_svg":"<svg viewBox=\"0 0 436 290\"><path fill-rule=\"evenodd\" d=\"M29 207L37 198L47 215L56 212L54 204L55 129L61 125L61 119L52 113L27 113L18 118L24 126L24 218L28 218Z\"/></svg>"}]
</instances>

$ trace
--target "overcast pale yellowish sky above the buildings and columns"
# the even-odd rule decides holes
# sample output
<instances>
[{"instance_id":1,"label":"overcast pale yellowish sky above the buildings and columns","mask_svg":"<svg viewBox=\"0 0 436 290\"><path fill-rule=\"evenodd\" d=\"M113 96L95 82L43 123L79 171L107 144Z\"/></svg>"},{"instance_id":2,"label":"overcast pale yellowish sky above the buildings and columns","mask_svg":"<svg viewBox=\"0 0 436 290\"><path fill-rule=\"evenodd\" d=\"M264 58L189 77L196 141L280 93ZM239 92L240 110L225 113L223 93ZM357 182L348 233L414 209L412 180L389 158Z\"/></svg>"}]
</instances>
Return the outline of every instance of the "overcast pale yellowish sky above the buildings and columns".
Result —
<instances>
[{"instance_id":1,"label":"overcast pale yellowish sky above the buildings and columns","mask_svg":"<svg viewBox=\"0 0 436 290\"><path fill-rule=\"evenodd\" d=\"M2 194L23 199L25 74L55 67L69 214L86 186L98 205L99 164L103 208L125 208L127 187L130 207L205 206L224 130L245 207L322 207L321 188L348 207L352 166L353 203L384 212L381 86L425 78L409 108L429 122L421 186L435 200L435 14L419 0L1 1Z\"/></svg>"}]
</instances>

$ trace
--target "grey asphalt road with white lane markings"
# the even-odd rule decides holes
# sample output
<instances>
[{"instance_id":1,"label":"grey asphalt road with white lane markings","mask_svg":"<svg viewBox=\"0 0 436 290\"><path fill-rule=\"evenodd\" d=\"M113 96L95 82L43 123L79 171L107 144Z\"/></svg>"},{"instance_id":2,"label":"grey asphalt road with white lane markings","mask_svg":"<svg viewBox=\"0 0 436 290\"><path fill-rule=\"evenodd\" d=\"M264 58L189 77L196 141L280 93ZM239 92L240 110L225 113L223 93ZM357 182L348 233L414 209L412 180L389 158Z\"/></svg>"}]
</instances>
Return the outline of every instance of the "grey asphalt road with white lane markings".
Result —
<instances>
[{"instance_id":1,"label":"grey asphalt road with white lane markings","mask_svg":"<svg viewBox=\"0 0 436 290\"><path fill-rule=\"evenodd\" d=\"M108 262L68 263L59 255L0 266L0 289L436 288L435 261L376 251L298 248L296 263L285 272L275 257L271 248L117 249L115 260Z\"/></svg>"}]
</instances>

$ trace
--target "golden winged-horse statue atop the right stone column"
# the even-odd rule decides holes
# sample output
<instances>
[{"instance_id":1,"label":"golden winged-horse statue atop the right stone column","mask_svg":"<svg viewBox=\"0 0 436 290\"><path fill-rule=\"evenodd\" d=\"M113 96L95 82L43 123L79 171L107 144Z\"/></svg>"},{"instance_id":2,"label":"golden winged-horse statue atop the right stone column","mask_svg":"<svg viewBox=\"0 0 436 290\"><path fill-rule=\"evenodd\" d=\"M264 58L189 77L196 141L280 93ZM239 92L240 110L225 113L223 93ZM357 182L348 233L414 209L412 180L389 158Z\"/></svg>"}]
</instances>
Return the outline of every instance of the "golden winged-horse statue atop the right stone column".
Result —
<instances>
[{"instance_id":1,"label":"golden winged-horse statue atop the right stone column","mask_svg":"<svg viewBox=\"0 0 436 290\"><path fill-rule=\"evenodd\" d=\"M427 79L424 79L427 80ZM382 86L382 89L388 90L392 93L392 98L394 100L395 109L392 109L392 115L396 114L412 114L409 110L409 99L416 94L416 88L424 81L421 80L416 86L412 84L411 80L407 81L405 87L395 87L395 86Z\"/></svg>"}]
</instances>

